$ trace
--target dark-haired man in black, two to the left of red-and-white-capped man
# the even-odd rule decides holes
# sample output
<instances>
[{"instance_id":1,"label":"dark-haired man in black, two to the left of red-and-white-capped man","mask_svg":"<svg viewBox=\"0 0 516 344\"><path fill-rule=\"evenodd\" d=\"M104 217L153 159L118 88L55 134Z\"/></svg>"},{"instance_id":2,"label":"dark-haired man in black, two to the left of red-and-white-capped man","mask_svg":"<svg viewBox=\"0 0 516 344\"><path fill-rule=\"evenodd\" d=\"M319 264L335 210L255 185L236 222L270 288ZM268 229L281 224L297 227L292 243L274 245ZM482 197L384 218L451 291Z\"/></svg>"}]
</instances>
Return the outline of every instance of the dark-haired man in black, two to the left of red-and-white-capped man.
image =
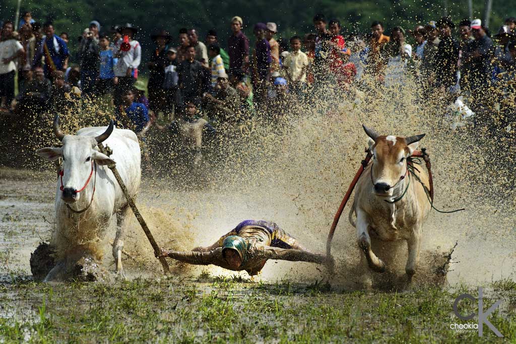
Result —
<instances>
[{"instance_id":1,"label":"dark-haired man in black, two to the left of red-and-white-capped man","mask_svg":"<svg viewBox=\"0 0 516 344\"><path fill-rule=\"evenodd\" d=\"M455 24L448 17L441 18L437 22L437 27L441 42L439 42L436 56L436 86L444 87L449 91L457 84L459 43L451 36L451 30Z\"/></svg>"}]
</instances>

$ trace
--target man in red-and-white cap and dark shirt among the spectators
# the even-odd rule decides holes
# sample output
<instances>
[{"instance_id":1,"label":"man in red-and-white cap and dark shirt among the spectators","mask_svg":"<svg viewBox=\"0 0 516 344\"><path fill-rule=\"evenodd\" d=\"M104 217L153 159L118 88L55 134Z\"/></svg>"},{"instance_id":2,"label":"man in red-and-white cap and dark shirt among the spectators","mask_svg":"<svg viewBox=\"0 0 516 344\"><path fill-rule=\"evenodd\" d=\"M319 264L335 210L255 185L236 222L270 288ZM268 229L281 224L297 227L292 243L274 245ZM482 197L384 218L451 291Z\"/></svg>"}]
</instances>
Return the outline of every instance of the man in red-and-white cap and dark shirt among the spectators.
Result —
<instances>
[{"instance_id":1,"label":"man in red-and-white cap and dark shirt among the spectators","mask_svg":"<svg viewBox=\"0 0 516 344\"><path fill-rule=\"evenodd\" d=\"M469 73L464 77L469 83L472 94L477 101L491 85L494 57L493 41L486 35L485 27L480 19L471 22L471 31L475 39L463 52L462 61L470 64Z\"/></svg>"}]
</instances>

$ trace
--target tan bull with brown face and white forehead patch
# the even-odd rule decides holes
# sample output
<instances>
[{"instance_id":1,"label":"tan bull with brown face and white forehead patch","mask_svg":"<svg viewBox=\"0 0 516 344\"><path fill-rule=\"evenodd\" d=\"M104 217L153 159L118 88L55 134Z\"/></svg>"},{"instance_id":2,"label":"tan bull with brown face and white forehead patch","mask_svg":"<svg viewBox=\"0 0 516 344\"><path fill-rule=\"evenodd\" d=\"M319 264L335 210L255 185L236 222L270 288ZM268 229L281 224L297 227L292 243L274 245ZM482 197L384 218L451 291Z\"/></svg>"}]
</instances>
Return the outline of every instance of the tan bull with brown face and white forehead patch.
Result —
<instances>
[{"instance_id":1,"label":"tan bull with brown face and white forehead patch","mask_svg":"<svg viewBox=\"0 0 516 344\"><path fill-rule=\"evenodd\" d=\"M423 185L414 175L427 188L428 176L421 168L414 170L414 174L409 172L407 158L417 149L424 134L404 138L379 136L366 126L364 130L370 137L368 145L373 157L357 183L349 214L351 224L357 228L358 245L364 252L361 255L362 282L370 286L367 266L375 272L385 271L382 259L372 250L372 240L373 243L407 241L405 271L410 280L419 262L423 222L431 206ZM352 222L353 211L357 216L356 225Z\"/></svg>"}]
</instances>

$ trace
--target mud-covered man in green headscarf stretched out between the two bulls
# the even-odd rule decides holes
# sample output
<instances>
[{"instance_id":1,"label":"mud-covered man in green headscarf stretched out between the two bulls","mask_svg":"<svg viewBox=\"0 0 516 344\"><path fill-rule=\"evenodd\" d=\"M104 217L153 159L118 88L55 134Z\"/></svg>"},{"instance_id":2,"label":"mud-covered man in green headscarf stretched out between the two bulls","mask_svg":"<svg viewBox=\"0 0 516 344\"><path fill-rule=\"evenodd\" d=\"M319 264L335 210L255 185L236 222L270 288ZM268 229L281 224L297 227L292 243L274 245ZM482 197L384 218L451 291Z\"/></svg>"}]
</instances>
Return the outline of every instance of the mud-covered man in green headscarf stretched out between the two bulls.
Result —
<instances>
[{"instance_id":1,"label":"mud-covered man in green headscarf stretched out between the two bulls","mask_svg":"<svg viewBox=\"0 0 516 344\"><path fill-rule=\"evenodd\" d=\"M260 273L268 259L333 265L332 257L311 253L276 223L257 220L240 222L209 247L186 252L162 249L160 257L196 265L213 264L233 271L245 270L251 276Z\"/></svg>"}]
</instances>

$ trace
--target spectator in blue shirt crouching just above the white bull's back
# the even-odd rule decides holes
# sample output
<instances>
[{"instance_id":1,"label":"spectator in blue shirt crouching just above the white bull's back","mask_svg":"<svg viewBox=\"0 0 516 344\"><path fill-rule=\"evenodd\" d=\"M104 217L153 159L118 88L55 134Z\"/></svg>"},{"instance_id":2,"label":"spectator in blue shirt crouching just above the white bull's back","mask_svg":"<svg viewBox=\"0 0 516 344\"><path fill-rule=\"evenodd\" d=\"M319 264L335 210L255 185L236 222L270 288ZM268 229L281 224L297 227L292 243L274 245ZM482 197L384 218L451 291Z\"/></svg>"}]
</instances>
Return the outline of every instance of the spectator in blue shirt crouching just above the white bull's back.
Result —
<instances>
[{"instance_id":1,"label":"spectator in blue shirt crouching just above the white bull's back","mask_svg":"<svg viewBox=\"0 0 516 344\"><path fill-rule=\"evenodd\" d=\"M135 91L125 91L117 113L117 122L127 129L132 129L141 139L152 125L149 119L149 110L141 103L134 102Z\"/></svg>"}]
</instances>

